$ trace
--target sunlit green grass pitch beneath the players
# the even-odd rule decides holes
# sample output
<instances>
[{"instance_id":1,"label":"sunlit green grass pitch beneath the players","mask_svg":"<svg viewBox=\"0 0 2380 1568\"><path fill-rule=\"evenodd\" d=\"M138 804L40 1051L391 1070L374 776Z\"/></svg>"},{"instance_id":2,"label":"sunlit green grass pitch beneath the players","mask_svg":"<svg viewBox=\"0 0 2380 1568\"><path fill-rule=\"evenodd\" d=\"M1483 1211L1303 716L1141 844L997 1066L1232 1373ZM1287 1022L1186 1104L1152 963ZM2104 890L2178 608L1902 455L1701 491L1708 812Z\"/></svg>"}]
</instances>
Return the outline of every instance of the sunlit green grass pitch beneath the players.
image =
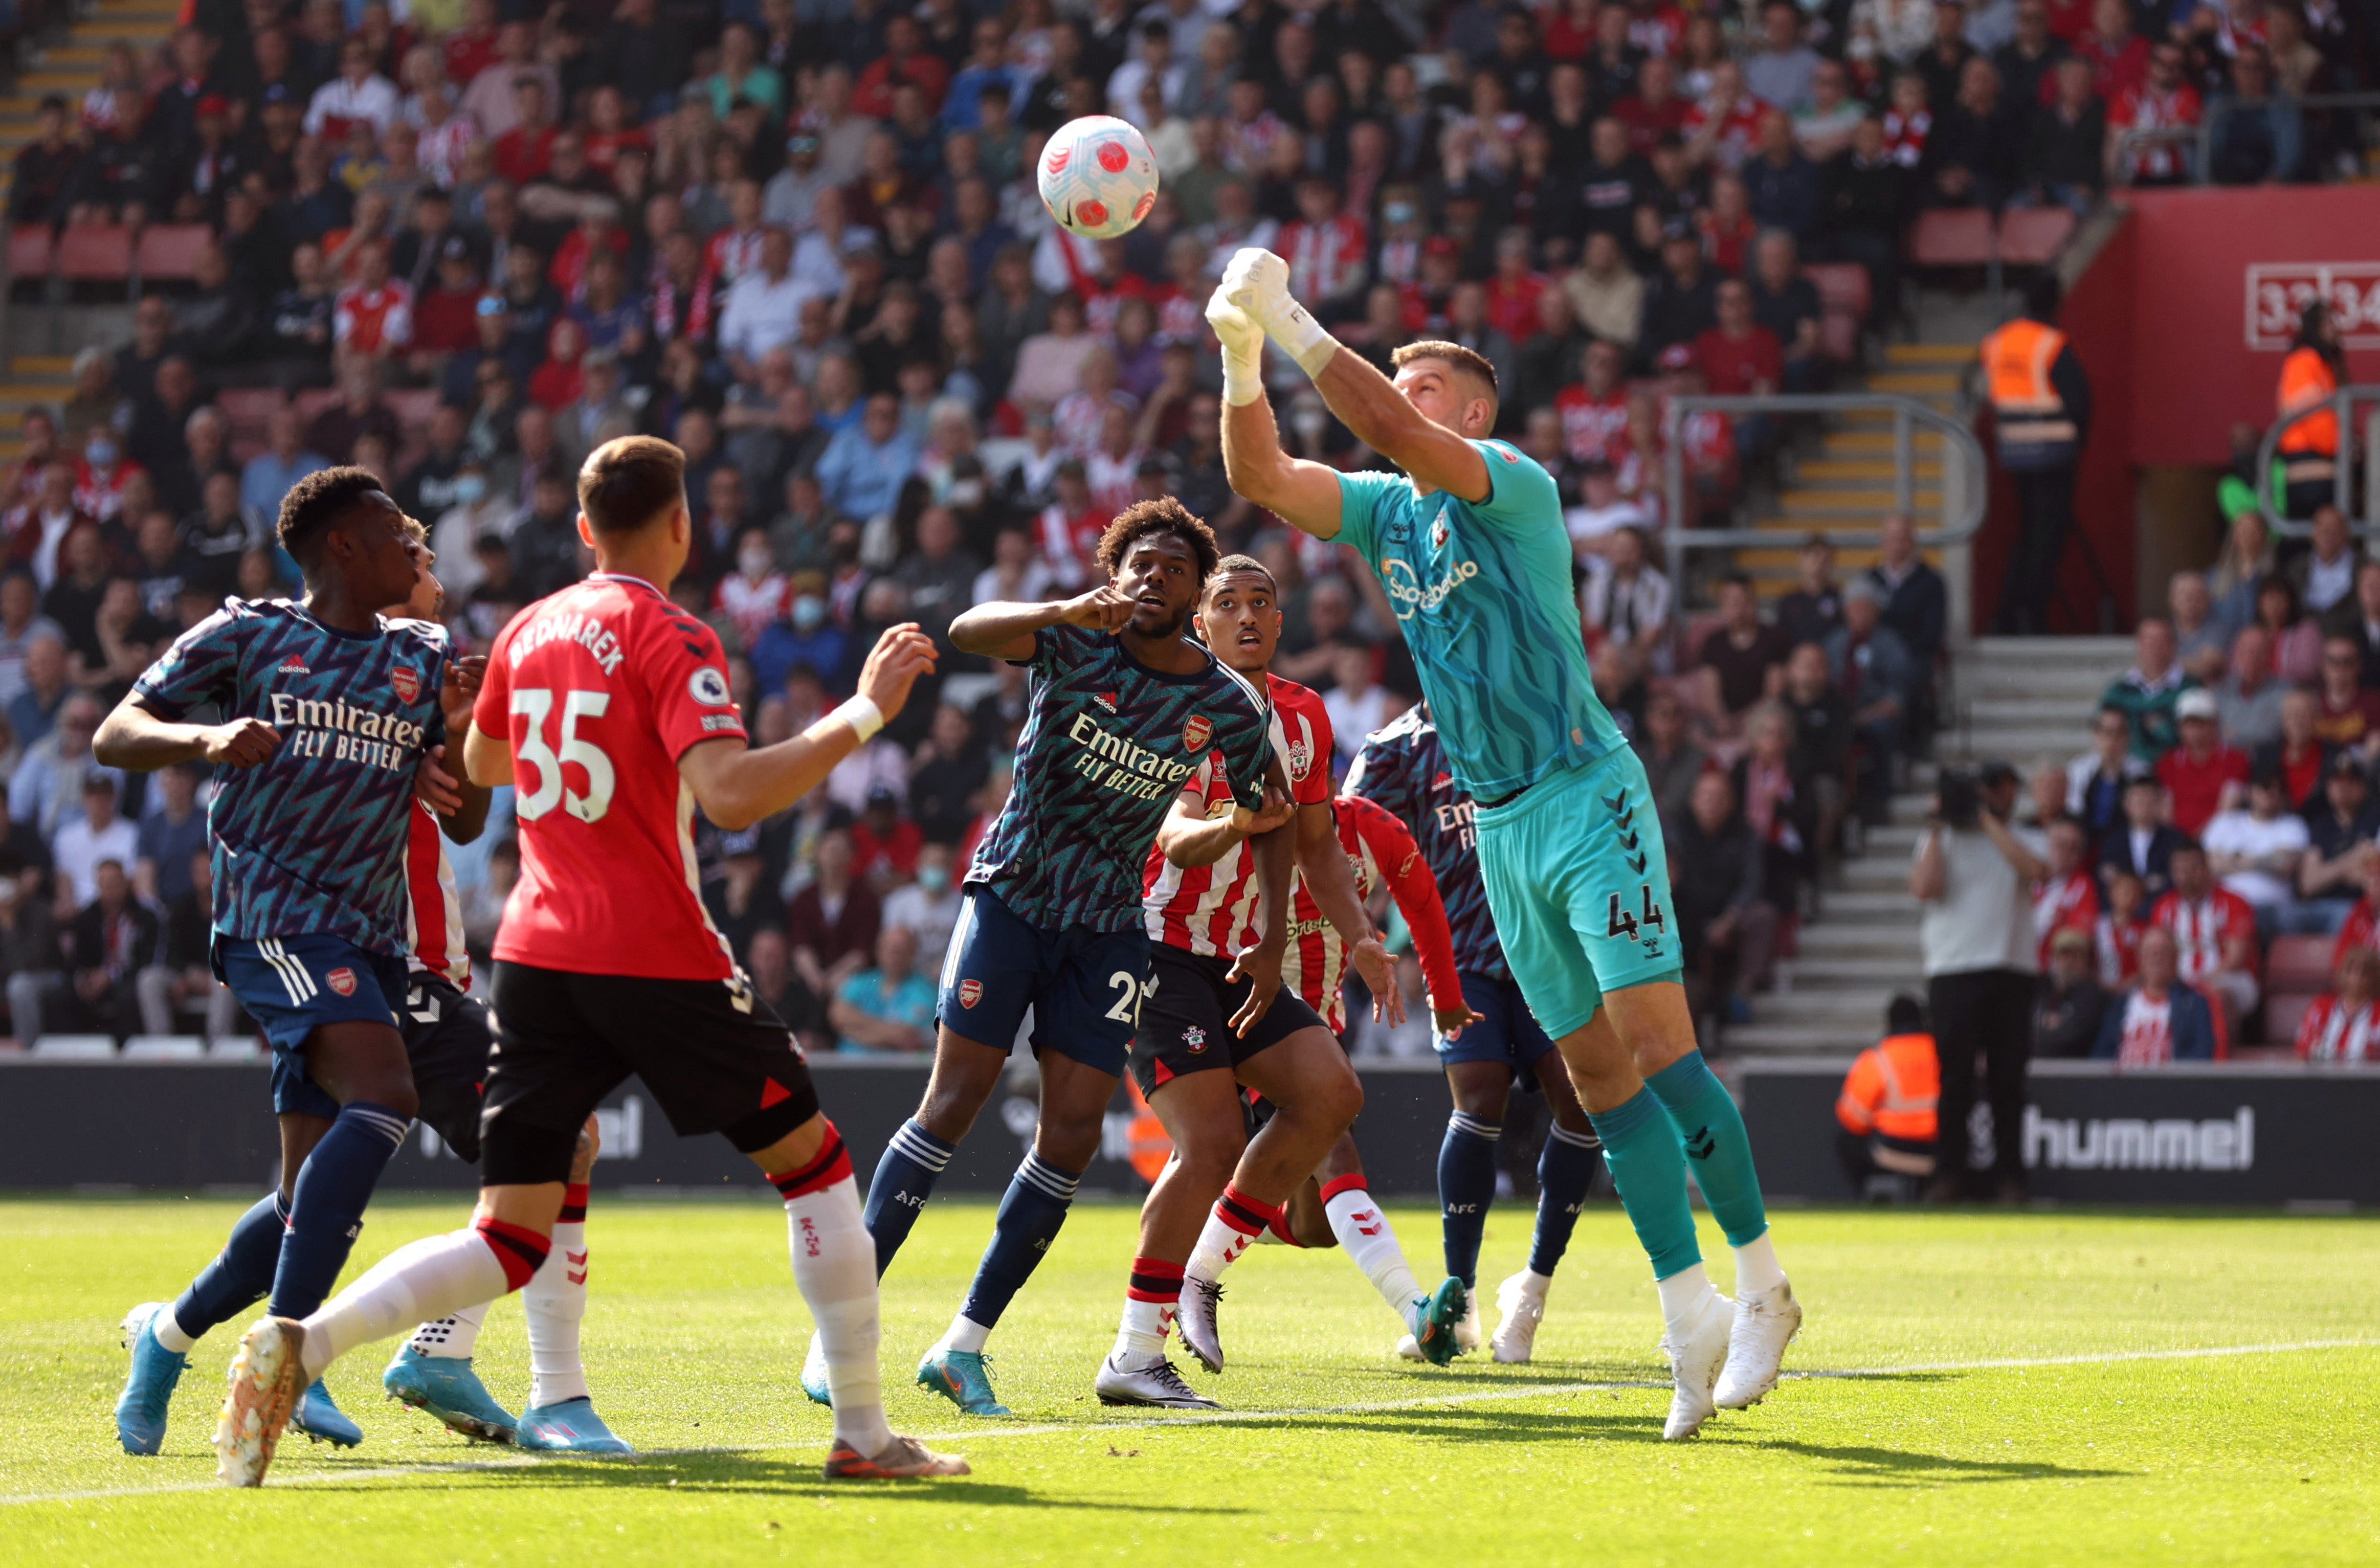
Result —
<instances>
[{"instance_id":1,"label":"sunlit green grass pitch beneath the players","mask_svg":"<svg viewBox=\"0 0 2380 1568\"><path fill-rule=\"evenodd\" d=\"M597 1194L588 1371L612 1425L657 1454L521 1463L469 1447L376 1399L393 1347L369 1347L331 1371L364 1447L293 1437L264 1492L233 1494L202 1485L231 1332L195 1351L159 1459L117 1451L109 1406L117 1318L178 1290L236 1213L0 1202L5 1561L2380 1558L2380 1225L2354 1218L1783 1213L1778 1252L1809 1309L1787 1366L1935 1371L1795 1380L1697 1442L1661 1444L1668 1394L1637 1387L1661 1378L1659 1321L1616 1209L1580 1223L1535 1366L1399 1363L1395 1323L1342 1256L1264 1247L1230 1275L1230 1371L1192 1380L1273 1413L1130 1423L1090 1399L1090 1375L1114 1337L1133 1211L1083 1204L992 1340L1019 1420L971 1423L909 1385L990 1225L985 1204L938 1202L885 1290L888 1404L976 1475L828 1489L828 1418L795 1385L809 1321L776 1204L759 1190L709 1204ZM378 1204L357 1266L459 1213L452 1199ZM1428 1271L1435 1216L1404 1206L1395 1221ZM1711 1228L1704 1242L1718 1244ZM1526 1209L1499 1206L1490 1292L1526 1244ZM2306 1347L2325 1340L2356 1344ZM2247 1344L2299 1349L1966 1366ZM478 1354L516 1409L516 1304L490 1313ZM495 1468L402 1470L457 1461Z\"/></svg>"}]
</instances>

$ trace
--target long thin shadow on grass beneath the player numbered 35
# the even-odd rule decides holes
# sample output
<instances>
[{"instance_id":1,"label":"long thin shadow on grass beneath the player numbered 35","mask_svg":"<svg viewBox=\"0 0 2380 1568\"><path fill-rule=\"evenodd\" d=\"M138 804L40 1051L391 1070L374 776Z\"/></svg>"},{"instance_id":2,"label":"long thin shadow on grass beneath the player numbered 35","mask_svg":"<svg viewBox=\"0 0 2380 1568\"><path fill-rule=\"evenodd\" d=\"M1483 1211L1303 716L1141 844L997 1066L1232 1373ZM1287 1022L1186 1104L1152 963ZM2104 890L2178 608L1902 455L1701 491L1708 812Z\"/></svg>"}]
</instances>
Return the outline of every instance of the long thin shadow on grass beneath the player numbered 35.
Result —
<instances>
[{"instance_id":1,"label":"long thin shadow on grass beneath the player numbered 35","mask_svg":"<svg viewBox=\"0 0 2380 1568\"><path fill-rule=\"evenodd\" d=\"M962 1444L964 1447L964 1444ZM455 1492L469 1482L481 1482L486 1470L421 1473L407 1478L407 1492ZM312 1482L307 1492L362 1492L369 1482L343 1485L336 1480ZM650 1454L643 1459L552 1459L536 1466L502 1468L505 1487L536 1492L569 1489L638 1489L674 1492L685 1497L804 1497L816 1501L933 1501L969 1504L978 1509L1069 1509L1076 1513L1169 1513L1183 1518L1216 1516L1233 1518L1250 1509L1166 1504L1152 1497L1130 1501L1097 1501L1085 1497L1042 1494L1014 1482L995 1482L981 1475L947 1480L878 1480L878 1482L828 1482L819 1475L816 1459L783 1459L774 1454ZM376 1487L374 1487L376 1489Z\"/></svg>"}]
</instances>

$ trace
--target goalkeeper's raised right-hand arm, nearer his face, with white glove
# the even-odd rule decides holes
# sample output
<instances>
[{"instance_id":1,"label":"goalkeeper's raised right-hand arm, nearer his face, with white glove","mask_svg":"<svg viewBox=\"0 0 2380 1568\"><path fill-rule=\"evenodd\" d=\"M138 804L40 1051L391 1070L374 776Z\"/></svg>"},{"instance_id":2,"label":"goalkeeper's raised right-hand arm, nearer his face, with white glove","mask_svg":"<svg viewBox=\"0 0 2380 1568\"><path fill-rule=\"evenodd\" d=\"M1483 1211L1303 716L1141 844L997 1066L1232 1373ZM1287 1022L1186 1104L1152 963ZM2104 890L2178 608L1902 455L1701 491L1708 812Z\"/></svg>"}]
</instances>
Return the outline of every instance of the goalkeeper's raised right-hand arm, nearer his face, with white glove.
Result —
<instances>
[{"instance_id":1,"label":"goalkeeper's raised right-hand arm, nearer his face, with white glove","mask_svg":"<svg viewBox=\"0 0 2380 1568\"><path fill-rule=\"evenodd\" d=\"M1357 440L1404 469L1418 485L1447 490L1466 502L1488 500L1488 459L1480 457L1478 447L1454 431L1423 419L1421 409L1407 402L1404 393L1390 385L1388 376L1376 371L1361 355L1345 352L1340 340L1326 333L1307 307L1290 297L1288 262L1271 250L1242 250L1223 269L1223 286L1216 293L1261 326L1314 378L1314 390L1323 395L1323 402ZM1214 319L1211 305L1207 316L1209 321ZM1221 335L1221 328L1216 333ZM1228 414L1223 428L1228 464ZM1233 483L1233 490L1238 490L1238 483Z\"/></svg>"}]
</instances>

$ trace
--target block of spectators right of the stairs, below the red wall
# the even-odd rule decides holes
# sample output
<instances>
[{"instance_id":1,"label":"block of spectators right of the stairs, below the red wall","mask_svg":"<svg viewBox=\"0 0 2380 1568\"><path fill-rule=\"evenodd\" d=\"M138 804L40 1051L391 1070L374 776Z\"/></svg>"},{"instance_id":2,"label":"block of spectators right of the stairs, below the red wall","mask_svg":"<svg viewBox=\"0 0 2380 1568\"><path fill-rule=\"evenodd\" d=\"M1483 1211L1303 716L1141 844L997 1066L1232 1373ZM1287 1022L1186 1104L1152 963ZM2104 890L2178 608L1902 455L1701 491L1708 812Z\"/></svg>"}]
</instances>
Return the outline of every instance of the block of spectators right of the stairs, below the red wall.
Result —
<instances>
[{"instance_id":1,"label":"block of spectators right of the stairs, below the red wall","mask_svg":"<svg viewBox=\"0 0 2380 1568\"><path fill-rule=\"evenodd\" d=\"M2380 562L2330 507L2280 562L2249 512L2168 604L2033 776L2037 1052L2380 1061Z\"/></svg>"}]
</instances>

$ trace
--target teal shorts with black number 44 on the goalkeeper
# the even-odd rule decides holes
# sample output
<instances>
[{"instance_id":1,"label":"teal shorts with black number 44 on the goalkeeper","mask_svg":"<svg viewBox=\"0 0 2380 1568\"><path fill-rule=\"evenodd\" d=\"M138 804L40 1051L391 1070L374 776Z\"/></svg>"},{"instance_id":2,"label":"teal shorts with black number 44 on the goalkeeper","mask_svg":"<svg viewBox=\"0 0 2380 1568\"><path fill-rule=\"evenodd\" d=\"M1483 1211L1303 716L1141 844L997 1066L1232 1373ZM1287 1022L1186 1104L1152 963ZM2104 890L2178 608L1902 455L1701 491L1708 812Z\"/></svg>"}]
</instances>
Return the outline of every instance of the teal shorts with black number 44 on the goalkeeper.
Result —
<instances>
[{"instance_id":1,"label":"teal shorts with black number 44 on the goalkeeper","mask_svg":"<svg viewBox=\"0 0 2380 1568\"><path fill-rule=\"evenodd\" d=\"M1606 990L1680 978L1661 816L1630 747L1473 821L1504 961L1547 1035L1580 1028Z\"/></svg>"}]
</instances>

